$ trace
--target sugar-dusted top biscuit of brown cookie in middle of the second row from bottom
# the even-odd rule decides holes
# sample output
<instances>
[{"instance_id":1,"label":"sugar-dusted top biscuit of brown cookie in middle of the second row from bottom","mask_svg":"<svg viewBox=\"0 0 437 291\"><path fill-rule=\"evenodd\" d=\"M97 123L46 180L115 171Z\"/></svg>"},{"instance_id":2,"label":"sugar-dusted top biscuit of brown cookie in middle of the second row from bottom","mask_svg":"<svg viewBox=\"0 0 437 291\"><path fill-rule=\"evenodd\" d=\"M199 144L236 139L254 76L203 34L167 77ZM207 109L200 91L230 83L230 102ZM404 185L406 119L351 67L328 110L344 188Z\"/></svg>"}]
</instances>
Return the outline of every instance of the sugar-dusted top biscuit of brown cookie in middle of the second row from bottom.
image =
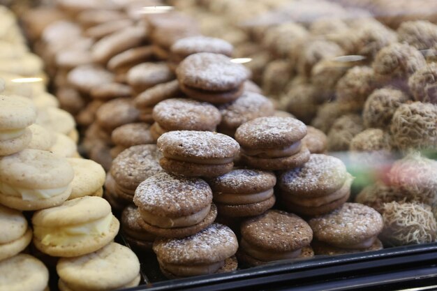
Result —
<instances>
[{"instance_id":1,"label":"sugar-dusted top biscuit of brown cookie in middle of the second row from bottom","mask_svg":"<svg viewBox=\"0 0 437 291\"><path fill-rule=\"evenodd\" d=\"M273 172L236 169L208 181L214 193L259 193L273 188Z\"/></svg>"}]
</instances>

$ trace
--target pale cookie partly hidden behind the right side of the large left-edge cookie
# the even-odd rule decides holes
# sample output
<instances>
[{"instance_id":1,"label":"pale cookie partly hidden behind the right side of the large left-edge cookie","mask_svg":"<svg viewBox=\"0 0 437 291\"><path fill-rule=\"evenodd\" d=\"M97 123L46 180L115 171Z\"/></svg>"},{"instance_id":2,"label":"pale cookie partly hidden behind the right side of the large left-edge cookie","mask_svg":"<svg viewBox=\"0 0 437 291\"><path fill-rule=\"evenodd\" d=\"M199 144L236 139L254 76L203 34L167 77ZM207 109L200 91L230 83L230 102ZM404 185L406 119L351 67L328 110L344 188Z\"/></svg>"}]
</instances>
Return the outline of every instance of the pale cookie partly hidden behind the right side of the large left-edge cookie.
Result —
<instances>
[{"instance_id":1,"label":"pale cookie partly hidden behind the right side of the large left-edge cookie","mask_svg":"<svg viewBox=\"0 0 437 291\"><path fill-rule=\"evenodd\" d=\"M73 167L74 178L68 200L82 196L94 196L101 193L105 184L105 170L98 163L84 158L68 158Z\"/></svg>"}]
</instances>

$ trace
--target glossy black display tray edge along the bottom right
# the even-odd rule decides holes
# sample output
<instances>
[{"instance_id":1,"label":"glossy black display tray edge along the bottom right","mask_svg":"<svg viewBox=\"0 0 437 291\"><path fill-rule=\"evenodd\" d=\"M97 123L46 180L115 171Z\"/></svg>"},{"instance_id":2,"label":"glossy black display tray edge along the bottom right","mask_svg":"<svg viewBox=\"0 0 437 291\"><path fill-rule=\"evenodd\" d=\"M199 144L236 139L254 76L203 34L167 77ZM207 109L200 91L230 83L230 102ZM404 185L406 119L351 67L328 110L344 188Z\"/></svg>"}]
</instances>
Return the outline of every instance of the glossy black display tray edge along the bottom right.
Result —
<instances>
[{"instance_id":1,"label":"glossy black display tray edge along the bottom right","mask_svg":"<svg viewBox=\"0 0 437 291\"><path fill-rule=\"evenodd\" d=\"M154 255L139 258L144 282L126 290L399 290L437 285L437 243L316 256L176 280L165 280Z\"/></svg>"}]
</instances>

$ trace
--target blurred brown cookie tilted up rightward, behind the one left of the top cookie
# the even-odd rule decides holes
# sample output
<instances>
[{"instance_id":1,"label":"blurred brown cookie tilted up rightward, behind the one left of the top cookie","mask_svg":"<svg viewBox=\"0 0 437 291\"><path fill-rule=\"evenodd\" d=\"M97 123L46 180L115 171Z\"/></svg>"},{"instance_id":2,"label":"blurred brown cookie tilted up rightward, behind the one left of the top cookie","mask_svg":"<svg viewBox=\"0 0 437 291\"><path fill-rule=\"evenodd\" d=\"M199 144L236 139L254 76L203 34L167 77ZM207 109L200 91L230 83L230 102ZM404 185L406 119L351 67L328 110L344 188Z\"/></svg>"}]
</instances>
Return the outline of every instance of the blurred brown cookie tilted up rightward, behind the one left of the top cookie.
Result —
<instances>
[{"instance_id":1,"label":"blurred brown cookie tilted up rightward, behind the one left of the top cookie","mask_svg":"<svg viewBox=\"0 0 437 291\"><path fill-rule=\"evenodd\" d=\"M127 73L133 66L153 61L154 55L151 46L134 47L130 50L125 50L108 61L108 69L117 75Z\"/></svg>"}]
</instances>

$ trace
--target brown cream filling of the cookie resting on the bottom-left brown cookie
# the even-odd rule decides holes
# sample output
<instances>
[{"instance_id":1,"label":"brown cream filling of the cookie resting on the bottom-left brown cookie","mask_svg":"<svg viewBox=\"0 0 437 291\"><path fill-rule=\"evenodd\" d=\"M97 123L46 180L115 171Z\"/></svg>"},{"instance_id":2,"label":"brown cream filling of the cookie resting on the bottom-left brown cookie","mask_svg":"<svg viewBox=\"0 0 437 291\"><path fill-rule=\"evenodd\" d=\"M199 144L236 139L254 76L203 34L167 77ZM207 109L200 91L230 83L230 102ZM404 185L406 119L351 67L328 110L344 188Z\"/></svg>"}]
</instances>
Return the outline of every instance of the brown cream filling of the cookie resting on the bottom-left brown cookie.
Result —
<instances>
[{"instance_id":1,"label":"brown cream filling of the cookie resting on the bottom-left brown cookie","mask_svg":"<svg viewBox=\"0 0 437 291\"><path fill-rule=\"evenodd\" d=\"M211 205L208 205L204 209L191 214L188 216L181 217L164 217L157 216L156 214L151 214L149 211L139 209L140 215L145 222L162 228L172 228L172 227L186 227L191 225L196 225L203 221L205 217L209 214L209 209Z\"/></svg>"}]
</instances>

